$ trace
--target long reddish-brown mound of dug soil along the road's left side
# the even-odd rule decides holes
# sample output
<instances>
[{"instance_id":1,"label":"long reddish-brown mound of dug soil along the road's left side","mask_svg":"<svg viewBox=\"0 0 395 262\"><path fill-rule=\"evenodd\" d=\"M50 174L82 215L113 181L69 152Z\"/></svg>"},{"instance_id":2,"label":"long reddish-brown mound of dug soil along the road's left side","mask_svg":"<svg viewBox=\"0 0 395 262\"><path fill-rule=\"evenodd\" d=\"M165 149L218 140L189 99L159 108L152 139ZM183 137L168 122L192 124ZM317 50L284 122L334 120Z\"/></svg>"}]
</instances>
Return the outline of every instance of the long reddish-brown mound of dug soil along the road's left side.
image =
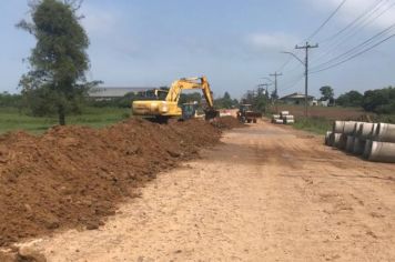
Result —
<instances>
[{"instance_id":1,"label":"long reddish-brown mound of dug soil along the road's left side","mask_svg":"<svg viewBox=\"0 0 395 262\"><path fill-rule=\"evenodd\" d=\"M136 196L135 188L198 157L232 122L131 119L101 130L54 127L41 137L0 137L0 246L58 229L97 229L120 201Z\"/></svg>"}]
</instances>

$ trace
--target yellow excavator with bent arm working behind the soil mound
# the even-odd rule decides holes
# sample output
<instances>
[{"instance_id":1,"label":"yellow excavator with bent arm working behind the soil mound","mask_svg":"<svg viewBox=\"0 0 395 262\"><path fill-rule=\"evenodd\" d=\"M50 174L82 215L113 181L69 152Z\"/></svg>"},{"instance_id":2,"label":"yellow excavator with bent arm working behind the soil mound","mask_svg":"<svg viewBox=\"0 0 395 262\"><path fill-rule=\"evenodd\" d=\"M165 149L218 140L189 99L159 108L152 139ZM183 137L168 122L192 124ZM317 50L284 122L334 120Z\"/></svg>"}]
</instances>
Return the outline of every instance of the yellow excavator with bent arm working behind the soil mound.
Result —
<instances>
[{"instance_id":1,"label":"yellow excavator with bent arm working behind the soil mound","mask_svg":"<svg viewBox=\"0 0 395 262\"><path fill-rule=\"evenodd\" d=\"M183 110L179 107L182 90L201 89L206 101L204 109L205 119L219 117L214 109L214 99L210 84L205 77L183 78L174 81L164 100L135 100L132 109L133 115L151 119L155 122L165 123L170 118L183 119Z\"/></svg>"}]
</instances>

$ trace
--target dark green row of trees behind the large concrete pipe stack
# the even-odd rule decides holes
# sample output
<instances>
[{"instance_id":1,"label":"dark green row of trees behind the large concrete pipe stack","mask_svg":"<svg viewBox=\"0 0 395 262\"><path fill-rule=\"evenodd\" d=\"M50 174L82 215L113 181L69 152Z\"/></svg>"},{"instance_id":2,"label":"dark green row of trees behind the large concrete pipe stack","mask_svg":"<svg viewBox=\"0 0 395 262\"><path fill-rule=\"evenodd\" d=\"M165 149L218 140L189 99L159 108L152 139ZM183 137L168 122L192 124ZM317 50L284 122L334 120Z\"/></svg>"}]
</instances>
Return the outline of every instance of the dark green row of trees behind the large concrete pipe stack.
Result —
<instances>
[{"instance_id":1,"label":"dark green row of trees behind the large concrete pipe stack","mask_svg":"<svg viewBox=\"0 0 395 262\"><path fill-rule=\"evenodd\" d=\"M367 112L395 113L395 88L368 90L365 93L350 91L340 95L338 105L363 108Z\"/></svg>"}]
</instances>

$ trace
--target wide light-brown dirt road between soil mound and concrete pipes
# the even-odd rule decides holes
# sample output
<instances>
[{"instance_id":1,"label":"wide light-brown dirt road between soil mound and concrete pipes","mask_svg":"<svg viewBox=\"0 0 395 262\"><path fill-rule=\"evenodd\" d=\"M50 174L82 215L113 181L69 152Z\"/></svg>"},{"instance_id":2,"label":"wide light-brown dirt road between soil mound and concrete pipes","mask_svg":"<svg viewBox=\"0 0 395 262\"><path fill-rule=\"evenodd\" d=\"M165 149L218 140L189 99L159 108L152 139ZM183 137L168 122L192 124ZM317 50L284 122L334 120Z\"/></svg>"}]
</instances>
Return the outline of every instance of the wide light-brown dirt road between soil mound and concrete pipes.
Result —
<instances>
[{"instance_id":1,"label":"wide light-brown dirt road between soil mound and concrete pipes","mask_svg":"<svg viewBox=\"0 0 395 262\"><path fill-rule=\"evenodd\" d=\"M97 231L36 243L48 261L394 261L395 165L261 122L225 133Z\"/></svg>"}]
</instances>

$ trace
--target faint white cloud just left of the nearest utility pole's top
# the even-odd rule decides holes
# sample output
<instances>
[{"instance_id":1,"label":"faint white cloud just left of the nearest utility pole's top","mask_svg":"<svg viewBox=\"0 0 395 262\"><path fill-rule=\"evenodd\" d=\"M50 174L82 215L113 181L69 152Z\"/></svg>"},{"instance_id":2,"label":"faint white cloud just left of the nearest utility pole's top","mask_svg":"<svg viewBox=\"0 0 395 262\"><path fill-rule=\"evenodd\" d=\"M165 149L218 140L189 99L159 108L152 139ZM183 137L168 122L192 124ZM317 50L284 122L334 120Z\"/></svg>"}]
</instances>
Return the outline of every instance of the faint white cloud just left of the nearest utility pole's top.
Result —
<instances>
[{"instance_id":1,"label":"faint white cloud just left of the nearest utility pole's top","mask_svg":"<svg viewBox=\"0 0 395 262\"><path fill-rule=\"evenodd\" d=\"M247 42L257 50L286 50L293 48L297 38L291 34L276 33L252 33L247 36Z\"/></svg>"}]
</instances>

